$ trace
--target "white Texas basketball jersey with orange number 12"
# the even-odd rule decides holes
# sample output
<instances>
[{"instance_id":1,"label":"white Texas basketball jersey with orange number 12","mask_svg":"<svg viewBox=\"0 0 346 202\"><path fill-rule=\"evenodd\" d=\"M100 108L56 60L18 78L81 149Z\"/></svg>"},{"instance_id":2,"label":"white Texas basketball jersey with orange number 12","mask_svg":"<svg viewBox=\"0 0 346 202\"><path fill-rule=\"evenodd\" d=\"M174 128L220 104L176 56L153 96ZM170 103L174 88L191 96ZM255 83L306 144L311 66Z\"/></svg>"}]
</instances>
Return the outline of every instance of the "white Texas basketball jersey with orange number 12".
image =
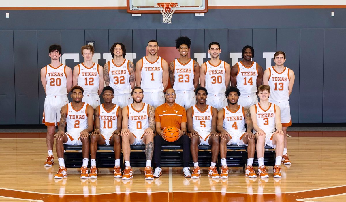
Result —
<instances>
[{"instance_id":1,"label":"white Texas basketball jersey with orange number 12","mask_svg":"<svg viewBox=\"0 0 346 202\"><path fill-rule=\"evenodd\" d=\"M94 63L91 67L78 65L79 73L77 84L84 89L84 95L98 95L100 85L99 65Z\"/></svg>"}]
</instances>

